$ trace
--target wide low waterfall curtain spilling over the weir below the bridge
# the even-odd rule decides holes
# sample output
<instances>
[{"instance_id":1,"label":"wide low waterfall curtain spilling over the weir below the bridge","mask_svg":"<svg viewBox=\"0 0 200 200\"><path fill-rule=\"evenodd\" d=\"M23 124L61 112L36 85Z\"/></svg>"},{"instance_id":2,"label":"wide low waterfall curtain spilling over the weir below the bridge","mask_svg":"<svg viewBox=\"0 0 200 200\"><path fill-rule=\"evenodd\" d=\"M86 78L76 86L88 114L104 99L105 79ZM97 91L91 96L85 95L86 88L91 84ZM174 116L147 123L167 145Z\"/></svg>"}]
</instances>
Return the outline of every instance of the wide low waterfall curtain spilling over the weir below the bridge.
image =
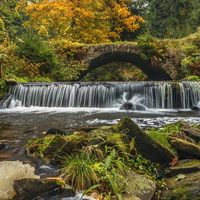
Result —
<instances>
[{"instance_id":1,"label":"wide low waterfall curtain spilling over the weir below the bridge","mask_svg":"<svg viewBox=\"0 0 200 200\"><path fill-rule=\"evenodd\" d=\"M119 107L189 109L200 101L200 82L18 83L1 107Z\"/></svg>"}]
</instances>

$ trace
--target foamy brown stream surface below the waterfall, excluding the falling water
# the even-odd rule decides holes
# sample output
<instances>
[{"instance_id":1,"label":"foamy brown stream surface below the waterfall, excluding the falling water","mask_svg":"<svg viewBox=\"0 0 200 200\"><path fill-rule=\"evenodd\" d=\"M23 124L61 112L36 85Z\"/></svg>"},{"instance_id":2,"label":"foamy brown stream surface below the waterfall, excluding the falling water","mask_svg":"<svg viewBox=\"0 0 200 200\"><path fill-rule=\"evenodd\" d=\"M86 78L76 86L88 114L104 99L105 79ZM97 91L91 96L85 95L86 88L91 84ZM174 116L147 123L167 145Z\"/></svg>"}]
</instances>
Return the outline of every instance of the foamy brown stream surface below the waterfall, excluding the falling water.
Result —
<instances>
[{"instance_id":1,"label":"foamy brown stream surface below the waterfall, excluding the falling water","mask_svg":"<svg viewBox=\"0 0 200 200\"><path fill-rule=\"evenodd\" d=\"M6 148L0 150L1 160L26 160L33 166L44 164L39 159L26 156L28 139L43 137L49 128L74 130L81 126L110 126L122 117L128 116L141 128L159 128L179 120L200 124L200 112L175 109L148 109L145 111L123 111L119 108L48 108L16 107L0 109L0 143Z\"/></svg>"}]
</instances>

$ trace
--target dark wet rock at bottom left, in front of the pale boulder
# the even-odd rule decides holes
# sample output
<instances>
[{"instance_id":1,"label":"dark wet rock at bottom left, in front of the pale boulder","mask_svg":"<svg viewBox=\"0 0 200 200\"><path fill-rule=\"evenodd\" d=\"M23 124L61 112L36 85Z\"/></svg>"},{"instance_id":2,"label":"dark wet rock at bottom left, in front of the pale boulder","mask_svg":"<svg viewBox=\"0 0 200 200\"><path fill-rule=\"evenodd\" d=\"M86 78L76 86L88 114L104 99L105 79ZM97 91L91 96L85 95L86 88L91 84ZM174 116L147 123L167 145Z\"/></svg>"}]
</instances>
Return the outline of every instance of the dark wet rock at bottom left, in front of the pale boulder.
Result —
<instances>
[{"instance_id":1,"label":"dark wet rock at bottom left, in front of the pale boulder","mask_svg":"<svg viewBox=\"0 0 200 200\"><path fill-rule=\"evenodd\" d=\"M52 179L31 179L26 178L16 180L14 182L14 189L17 195L13 200L34 199L38 195L48 193L52 190L59 188L56 180Z\"/></svg>"}]
</instances>

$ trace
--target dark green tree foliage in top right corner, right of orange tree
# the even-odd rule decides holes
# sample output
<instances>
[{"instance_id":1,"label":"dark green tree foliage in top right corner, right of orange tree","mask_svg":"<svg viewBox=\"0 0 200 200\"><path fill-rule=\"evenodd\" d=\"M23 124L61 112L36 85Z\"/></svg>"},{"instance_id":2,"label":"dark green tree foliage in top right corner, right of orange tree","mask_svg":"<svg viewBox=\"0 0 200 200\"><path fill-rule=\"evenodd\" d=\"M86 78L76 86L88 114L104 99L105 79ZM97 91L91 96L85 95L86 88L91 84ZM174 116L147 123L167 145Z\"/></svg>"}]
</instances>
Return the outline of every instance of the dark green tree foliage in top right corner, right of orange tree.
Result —
<instances>
[{"instance_id":1,"label":"dark green tree foliage in top right corner, right of orange tree","mask_svg":"<svg viewBox=\"0 0 200 200\"><path fill-rule=\"evenodd\" d=\"M163 0L162 2L148 0L148 2L145 18L151 34L155 37L184 37L200 25L192 20L200 4L198 0Z\"/></svg>"}]
</instances>

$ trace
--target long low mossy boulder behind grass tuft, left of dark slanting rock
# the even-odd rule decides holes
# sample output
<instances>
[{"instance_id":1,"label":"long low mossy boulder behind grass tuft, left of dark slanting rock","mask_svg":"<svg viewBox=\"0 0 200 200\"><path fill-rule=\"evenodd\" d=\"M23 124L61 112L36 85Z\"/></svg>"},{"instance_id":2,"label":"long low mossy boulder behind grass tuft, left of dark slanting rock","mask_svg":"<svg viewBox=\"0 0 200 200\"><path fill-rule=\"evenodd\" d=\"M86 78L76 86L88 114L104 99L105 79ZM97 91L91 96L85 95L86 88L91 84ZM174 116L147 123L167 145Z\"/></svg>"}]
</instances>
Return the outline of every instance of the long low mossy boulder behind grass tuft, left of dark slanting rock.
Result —
<instances>
[{"instance_id":1,"label":"long low mossy boulder behind grass tuft, left of dark slanting rock","mask_svg":"<svg viewBox=\"0 0 200 200\"><path fill-rule=\"evenodd\" d=\"M44 138L29 140L26 150L29 156L41 157L56 164L62 162L63 157L79 151L105 151L107 148L121 148L129 152L132 138L126 134L115 133L109 126L87 132L74 132L70 135L47 135ZM134 152L134 150L132 149Z\"/></svg>"}]
</instances>

